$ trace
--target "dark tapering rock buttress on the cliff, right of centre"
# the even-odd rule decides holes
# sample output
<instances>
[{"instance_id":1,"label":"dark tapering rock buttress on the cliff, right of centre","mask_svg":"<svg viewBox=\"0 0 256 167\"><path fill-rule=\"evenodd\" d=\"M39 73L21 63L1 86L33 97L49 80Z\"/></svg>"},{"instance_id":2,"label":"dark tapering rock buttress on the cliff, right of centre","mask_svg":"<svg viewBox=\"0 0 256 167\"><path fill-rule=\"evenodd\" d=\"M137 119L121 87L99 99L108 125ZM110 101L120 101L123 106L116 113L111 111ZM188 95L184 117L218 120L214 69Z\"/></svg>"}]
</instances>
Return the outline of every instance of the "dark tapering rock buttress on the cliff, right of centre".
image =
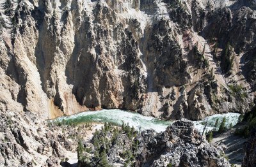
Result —
<instances>
[{"instance_id":1,"label":"dark tapering rock buttress on the cliff, right of centre","mask_svg":"<svg viewBox=\"0 0 256 167\"><path fill-rule=\"evenodd\" d=\"M172 31L168 21L160 20L145 33L149 38L143 46L143 58L149 73L151 72L148 80L152 80L148 91L184 85L189 81L188 65L182 59L182 50Z\"/></svg>"}]
</instances>

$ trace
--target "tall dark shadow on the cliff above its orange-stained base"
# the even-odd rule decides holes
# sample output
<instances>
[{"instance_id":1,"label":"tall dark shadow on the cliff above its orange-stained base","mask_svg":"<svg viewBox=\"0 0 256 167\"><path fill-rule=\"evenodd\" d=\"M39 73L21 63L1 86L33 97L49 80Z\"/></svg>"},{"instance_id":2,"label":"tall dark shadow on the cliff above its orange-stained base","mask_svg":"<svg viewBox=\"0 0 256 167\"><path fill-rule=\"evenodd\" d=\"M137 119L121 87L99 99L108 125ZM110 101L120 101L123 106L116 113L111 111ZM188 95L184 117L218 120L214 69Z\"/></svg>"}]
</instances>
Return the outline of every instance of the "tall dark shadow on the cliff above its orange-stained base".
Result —
<instances>
[{"instance_id":1,"label":"tall dark shadow on the cliff above its orange-stained base","mask_svg":"<svg viewBox=\"0 0 256 167\"><path fill-rule=\"evenodd\" d=\"M95 63L97 57L93 57L92 54L88 53L89 45L92 43L92 33L90 32L89 25L88 22L83 22L76 31L74 38L75 46L65 69L67 83L74 85L72 94L74 94L80 105L84 105L84 96L93 85L94 75L97 75ZM99 55L99 49L96 48L95 52ZM90 108L94 107L94 105L90 106Z\"/></svg>"}]
</instances>

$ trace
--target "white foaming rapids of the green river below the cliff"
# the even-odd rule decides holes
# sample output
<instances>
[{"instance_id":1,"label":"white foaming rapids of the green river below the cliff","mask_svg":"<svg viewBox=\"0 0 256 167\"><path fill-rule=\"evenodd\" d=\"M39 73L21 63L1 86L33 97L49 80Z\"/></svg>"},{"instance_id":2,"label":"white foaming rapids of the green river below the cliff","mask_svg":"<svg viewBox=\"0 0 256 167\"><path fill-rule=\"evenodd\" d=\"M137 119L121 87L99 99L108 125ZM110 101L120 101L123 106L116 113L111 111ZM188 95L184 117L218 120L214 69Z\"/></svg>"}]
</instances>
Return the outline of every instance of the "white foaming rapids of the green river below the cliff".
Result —
<instances>
[{"instance_id":1,"label":"white foaming rapids of the green river below the cliff","mask_svg":"<svg viewBox=\"0 0 256 167\"><path fill-rule=\"evenodd\" d=\"M208 119L207 131L214 129L214 125L217 119L219 119L219 125L223 117L226 117L226 126L229 127L230 123L236 125L239 118L239 113L225 113L216 114L205 118L204 120L194 121L196 129L202 133L204 129L204 122ZM154 129L157 132L165 131L166 127L172 124L171 121L159 120L154 117L146 117L134 112L125 112L122 110L100 110L97 112L83 112L71 115L68 117L60 117L57 121L65 120L66 122L111 122L119 126L124 122L133 126L138 130Z\"/></svg>"}]
</instances>

